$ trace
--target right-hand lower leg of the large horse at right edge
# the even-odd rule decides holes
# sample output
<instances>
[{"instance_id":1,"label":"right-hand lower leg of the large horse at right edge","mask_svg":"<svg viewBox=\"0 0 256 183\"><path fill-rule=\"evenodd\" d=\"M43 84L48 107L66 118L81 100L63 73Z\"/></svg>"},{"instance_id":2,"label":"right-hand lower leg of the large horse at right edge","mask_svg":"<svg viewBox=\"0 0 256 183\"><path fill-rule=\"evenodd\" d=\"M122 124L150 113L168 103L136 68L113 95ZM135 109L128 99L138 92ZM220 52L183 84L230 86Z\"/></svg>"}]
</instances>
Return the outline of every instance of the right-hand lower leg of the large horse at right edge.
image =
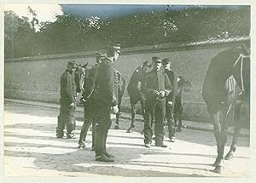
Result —
<instances>
[{"instance_id":1,"label":"right-hand lower leg of the large horse at right edge","mask_svg":"<svg viewBox=\"0 0 256 183\"><path fill-rule=\"evenodd\" d=\"M234 157L234 152L236 152L236 144L238 140L239 131L241 129L241 122L240 122L241 104L242 104L241 101L237 101L235 104L233 140L230 146L230 152L228 152L227 155L225 156L225 160L229 160L232 157Z\"/></svg>"}]
</instances>

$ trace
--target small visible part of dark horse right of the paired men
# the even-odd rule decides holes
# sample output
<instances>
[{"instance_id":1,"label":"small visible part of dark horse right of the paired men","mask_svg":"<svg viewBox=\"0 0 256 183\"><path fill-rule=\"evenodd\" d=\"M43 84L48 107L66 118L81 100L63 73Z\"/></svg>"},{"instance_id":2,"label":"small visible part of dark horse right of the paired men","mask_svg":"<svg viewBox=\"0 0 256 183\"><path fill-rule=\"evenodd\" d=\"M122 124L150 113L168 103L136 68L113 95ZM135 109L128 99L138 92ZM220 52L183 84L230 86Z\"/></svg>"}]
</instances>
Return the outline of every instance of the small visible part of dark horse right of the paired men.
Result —
<instances>
[{"instance_id":1,"label":"small visible part of dark horse right of the paired men","mask_svg":"<svg viewBox=\"0 0 256 183\"><path fill-rule=\"evenodd\" d=\"M188 92L191 88L191 83L189 80L185 79L183 76L177 76L177 94L174 100L174 108L173 108L173 117L174 123L177 127L176 131L181 132L182 128L182 113L183 113L183 105L182 105L182 93Z\"/></svg>"}]
</instances>

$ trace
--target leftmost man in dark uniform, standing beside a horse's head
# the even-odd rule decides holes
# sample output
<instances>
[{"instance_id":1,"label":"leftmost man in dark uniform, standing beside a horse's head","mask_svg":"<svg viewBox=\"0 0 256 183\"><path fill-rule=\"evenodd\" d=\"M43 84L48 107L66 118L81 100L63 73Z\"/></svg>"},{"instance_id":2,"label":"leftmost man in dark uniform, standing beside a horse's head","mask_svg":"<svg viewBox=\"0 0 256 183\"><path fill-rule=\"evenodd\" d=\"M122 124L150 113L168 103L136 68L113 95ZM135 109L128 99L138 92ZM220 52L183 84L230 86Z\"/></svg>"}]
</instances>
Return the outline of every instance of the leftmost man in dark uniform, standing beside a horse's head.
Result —
<instances>
[{"instance_id":1,"label":"leftmost man in dark uniform, standing beside a horse's head","mask_svg":"<svg viewBox=\"0 0 256 183\"><path fill-rule=\"evenodd\" d=\"M67 139L75 138L75 117L74 112L76 109L76 83L73 78L73 72L76 68L74 60L68 61L67 70L61 75L61 110L58 116L58 126L56 128L57 138L62 138L67 125Z\"/></svg>"}]
</instances>

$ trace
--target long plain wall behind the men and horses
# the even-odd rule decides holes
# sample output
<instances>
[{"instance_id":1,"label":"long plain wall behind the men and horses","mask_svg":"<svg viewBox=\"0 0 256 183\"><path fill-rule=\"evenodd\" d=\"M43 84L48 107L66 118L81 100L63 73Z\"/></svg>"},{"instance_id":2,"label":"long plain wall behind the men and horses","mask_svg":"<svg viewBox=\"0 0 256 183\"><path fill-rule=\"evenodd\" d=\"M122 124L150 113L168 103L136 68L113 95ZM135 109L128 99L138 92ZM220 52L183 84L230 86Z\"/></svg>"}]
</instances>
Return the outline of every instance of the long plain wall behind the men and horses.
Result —
<instances>
[{"instance_id":1,"label":"long plain wall behind the men and horses","mask_svg":"<svg viewBox=\"0 0 256 183\"><path fill-rule=\"evenodd\" d=\"M203 79L212 58L229 47L227 44L219 44L177 49L122 49L115 66L125 77L127 87L131 74L144 61L151 60L152 56L171 58L173 70L192 83L192 89L188 93L183 93L183 117L205 121L207 111L201 97ZM79 64L89 62L92 66L95 63L94 54L84 52L5 60L4 97L57 103L60 98L59 81L67 67L67 61L75 60ZM130 110L126 90L122 107L126 111Z\"/></svg>"}]
</instances>

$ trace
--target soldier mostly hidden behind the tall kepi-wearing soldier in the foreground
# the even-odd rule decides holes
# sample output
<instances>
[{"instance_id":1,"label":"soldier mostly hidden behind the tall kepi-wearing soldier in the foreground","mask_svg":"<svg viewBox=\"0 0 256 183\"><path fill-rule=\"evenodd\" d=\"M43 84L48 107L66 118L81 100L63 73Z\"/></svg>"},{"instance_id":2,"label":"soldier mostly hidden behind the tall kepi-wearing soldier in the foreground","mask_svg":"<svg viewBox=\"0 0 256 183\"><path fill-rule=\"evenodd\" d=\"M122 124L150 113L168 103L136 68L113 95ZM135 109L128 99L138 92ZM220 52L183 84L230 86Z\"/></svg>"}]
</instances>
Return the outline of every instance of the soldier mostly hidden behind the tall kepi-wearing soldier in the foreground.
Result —
<instances>
[{"instance_id":1,"label":"soldier mostly hidden behind the tall kepi-wearing soldier in the foreground","mask_svg":"<svg viewBox=\"0 0 256 183\"><path fill-rule=\"evenodd\" d=\"M92 124L92 145L91 150L95 151L96 147L96 122L95 122L95 80L96 71L99 66L100 60L104 58L106 54L96 54L96 65L90 68L88 75L84 78L84 92L82 94L82 103L84 104L84 123L80 132L79 148L84 148L84 142L90 125Z\"/></svg>"}]
</instances>

